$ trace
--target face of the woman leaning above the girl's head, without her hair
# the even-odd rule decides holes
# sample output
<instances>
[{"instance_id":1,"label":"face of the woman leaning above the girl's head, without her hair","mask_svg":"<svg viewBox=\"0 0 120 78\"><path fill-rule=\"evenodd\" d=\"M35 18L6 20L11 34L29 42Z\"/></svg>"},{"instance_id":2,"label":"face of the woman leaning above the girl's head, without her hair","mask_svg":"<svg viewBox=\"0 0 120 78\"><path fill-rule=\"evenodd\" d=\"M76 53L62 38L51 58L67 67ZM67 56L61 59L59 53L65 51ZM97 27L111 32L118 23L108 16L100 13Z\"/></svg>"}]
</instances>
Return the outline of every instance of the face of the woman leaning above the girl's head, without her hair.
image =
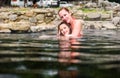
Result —
<instances>
[{"instance_id":1,"label":"face of the woman leaning above the girl's head, without her hair","mask_svg":"<svg viewBox=\"0 0 120 78\"><path fill-rule=\"evenodd\" d=\"M66 11L65 9L62 9L59 11L59 16L62 19L62 21L65 21L66 23L70 23L71 19L71 13Z\"/></svg>"}]
</instances>

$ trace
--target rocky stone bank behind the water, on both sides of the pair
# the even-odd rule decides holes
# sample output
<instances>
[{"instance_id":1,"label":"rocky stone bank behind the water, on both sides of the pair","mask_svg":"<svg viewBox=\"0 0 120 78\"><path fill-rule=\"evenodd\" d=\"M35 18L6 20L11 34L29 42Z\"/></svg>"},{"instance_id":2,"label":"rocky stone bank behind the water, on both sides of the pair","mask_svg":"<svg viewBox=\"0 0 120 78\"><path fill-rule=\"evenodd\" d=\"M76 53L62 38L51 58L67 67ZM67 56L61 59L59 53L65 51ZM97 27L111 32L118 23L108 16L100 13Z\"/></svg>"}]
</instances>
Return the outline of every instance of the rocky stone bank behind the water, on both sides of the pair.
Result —
<instances>
[{"instance_id":1,"label":"rocky stone bank behind the water, on both sides of the pair","mask_svg":"<svg viewBox=\"0 0 120 78\"><path fill-rule=\"evenodd\" d=\"M98 8L97 12L84 13L80 10L80 6L70 9L74 17L82 20L84 29L120 28L119 9L108 10L107 13L100 12ZM41 30L57 29L57 25L60 23L57 12L58 8L1 8L0 32L40 32Z\"/></svg>"}]
</instances>

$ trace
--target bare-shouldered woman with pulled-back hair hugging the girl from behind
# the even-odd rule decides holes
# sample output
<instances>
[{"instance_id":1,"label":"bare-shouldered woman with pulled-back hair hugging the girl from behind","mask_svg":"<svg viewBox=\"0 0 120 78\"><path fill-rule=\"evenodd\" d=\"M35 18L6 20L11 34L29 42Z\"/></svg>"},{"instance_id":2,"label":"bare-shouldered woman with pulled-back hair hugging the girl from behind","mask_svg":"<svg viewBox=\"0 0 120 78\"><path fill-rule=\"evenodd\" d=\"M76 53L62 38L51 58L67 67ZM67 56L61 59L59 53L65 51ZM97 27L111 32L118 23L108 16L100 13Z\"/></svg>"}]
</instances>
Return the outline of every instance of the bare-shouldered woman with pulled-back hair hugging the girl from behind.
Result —
<instances>
[{"instance_id":1,"label":"bare-shouldered woman with pulled-back hair hugging the girl from behind","mask_svg":"<svg viewBox=\"0 0 120 78\"><path fill-rule=\"evenodd\" d=\"M69 9L65 7L60 8L60 10L58 11L58 15L60 16L62 21L70 24L72 33L66 36L79 37L82 35L81 20L75 19Z\"/></svg>"}]
</instances>

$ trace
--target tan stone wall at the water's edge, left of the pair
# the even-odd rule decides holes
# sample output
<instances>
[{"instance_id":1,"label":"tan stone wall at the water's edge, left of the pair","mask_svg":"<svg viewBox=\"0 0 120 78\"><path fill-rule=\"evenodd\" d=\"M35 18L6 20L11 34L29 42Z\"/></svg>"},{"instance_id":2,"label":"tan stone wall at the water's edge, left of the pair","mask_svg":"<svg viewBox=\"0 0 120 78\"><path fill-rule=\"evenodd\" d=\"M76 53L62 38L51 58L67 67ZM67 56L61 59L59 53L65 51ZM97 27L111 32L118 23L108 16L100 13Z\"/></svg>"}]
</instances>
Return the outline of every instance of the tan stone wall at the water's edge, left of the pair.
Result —
<instances>
[{"instance_id":1,"label":"tan stone wall at the water's edge, left of the pair","mask_svg":"<svg viewBox=\"0 0 120 78\"><path fill-rule=\"evenodd\" d=\"M39 32L55 27L56 13L53 9L2 8L0 9L0 32Z\"/></svg>"}]
</instances>

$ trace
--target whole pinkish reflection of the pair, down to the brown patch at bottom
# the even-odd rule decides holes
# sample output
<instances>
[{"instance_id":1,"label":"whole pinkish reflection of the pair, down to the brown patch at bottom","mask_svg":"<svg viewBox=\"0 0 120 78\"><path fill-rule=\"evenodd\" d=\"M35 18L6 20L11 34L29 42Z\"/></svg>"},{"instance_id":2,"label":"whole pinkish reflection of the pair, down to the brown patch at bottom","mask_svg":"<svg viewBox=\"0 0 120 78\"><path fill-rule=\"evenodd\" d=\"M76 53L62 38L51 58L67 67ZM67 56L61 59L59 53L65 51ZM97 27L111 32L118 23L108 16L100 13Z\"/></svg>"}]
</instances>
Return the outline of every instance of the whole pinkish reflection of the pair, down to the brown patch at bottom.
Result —
<instances>
[{"instance_id":1,"label":"whole pinkish reflection of the pair, down to the brown patch at bottom","mask_svg":"<svg viewBox=\"0 0 120 78\"><path fill-rule=\"evenodd\" d=\"M80 59L77 59L77 57L80 57L80 52L75 52L76 49L80 49L78 45L80 45L80 42L75 38L59 38L60 52L58 54L58 62L60 62L63 67L66 66L66 70L58 70L59 78L79 77L79 69L77 66L71 65L80 63Z\"/></svg>"}]
</instances>

